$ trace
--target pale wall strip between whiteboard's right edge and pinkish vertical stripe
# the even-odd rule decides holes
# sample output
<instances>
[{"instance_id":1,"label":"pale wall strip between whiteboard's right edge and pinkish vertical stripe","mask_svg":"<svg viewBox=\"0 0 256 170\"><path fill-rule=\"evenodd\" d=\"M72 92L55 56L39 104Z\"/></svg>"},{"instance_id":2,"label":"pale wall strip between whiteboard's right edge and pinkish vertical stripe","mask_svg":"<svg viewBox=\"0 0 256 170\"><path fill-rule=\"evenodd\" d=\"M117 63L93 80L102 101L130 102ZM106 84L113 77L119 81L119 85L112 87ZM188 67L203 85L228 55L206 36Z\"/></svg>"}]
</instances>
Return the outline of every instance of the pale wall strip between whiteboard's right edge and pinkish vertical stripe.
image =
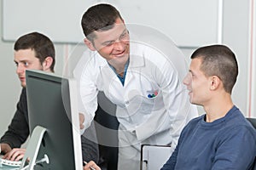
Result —
<instances>
[{"instance_id":1,"label":"pale wall strip between whiteboard's right edge and pinkish vertical stripe","mask_svg":"<svg viewBox=\"0 0 256 170\"><path fill-rule=\"evenodd\" d=\"M246 116L256 116L248 108L249 96L248 88L250 71L250 53L251 42L250 32L250 4L253 0L224 0L224 37L223 42L232 48L236 54L239 75L232 97L234 103L238 105ZM255 1L254 1L255 2ZM239 11L239 13L238 13ZM255 57L255 56L254 56ZM253 92L250 92L253 93ZM252 101L255 105L255 101Z\"/></svg>"}]
</instances>

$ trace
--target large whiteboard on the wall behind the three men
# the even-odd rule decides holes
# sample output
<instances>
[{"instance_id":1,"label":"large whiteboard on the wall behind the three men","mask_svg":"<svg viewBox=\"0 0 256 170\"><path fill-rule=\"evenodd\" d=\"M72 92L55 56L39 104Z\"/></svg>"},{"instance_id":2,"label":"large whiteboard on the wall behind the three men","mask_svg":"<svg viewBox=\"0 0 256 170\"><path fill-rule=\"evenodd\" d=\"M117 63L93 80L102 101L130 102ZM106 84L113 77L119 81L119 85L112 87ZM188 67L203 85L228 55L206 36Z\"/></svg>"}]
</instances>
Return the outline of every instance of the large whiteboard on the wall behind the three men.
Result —
<instances>
[{"instance_id":1,"label":"large whiteboard on the wall behind the three men","mask_svg":"<svg viewBox=\"0 0 256 170\"><path fill-rule=\"evenodd\" d=\"M53 42L83 42L80 20L96 3L113 4L126 23L157 29L181 47L218 41L217 0L3 0L3 41L39 31Z\"/></svg>"}]
</instances>

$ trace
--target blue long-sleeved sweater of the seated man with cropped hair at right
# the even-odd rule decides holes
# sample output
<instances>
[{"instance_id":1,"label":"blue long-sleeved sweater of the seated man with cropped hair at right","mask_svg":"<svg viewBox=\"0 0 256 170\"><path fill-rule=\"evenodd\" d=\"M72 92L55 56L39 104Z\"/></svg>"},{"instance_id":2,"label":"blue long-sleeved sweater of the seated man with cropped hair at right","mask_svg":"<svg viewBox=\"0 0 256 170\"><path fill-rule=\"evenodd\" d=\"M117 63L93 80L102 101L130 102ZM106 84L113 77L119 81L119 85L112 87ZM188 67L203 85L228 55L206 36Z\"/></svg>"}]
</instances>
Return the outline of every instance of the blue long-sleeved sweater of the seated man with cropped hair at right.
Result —
<instances>
[{"instance_id":1,"label":"blue long-sleeved sweater of the seated man with cropped hair at right","mask_svg":"<svg viewBox=\"0 0 256 170\"><path fill-rule=\"evenodd\" d=\"M205 122L205 116L183 128L172 156L161 170L252 169L256 131L234 106L226 116Z\"/></svg>"}]
</instances>

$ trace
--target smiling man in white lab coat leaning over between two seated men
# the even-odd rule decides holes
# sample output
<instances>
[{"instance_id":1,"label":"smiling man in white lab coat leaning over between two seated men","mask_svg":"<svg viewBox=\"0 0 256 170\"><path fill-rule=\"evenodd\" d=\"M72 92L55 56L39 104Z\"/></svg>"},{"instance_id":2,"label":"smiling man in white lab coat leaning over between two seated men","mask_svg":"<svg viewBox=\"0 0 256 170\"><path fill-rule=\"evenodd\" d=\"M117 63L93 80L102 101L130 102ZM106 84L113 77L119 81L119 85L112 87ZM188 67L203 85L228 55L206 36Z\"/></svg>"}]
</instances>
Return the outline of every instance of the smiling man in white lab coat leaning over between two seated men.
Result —
<instances>
[{"instance_id":1,"label":"smiling man in white lab coat leaning over between two seated men","mask_svg":"<svg viewBox=\"0 0 256 170\"><path fill-rule=\"evenodd\" d=\"M109 4L90 7L82 17L84 52L74 70L79 82L82 127L90 126L99 91L117 105L118 168L140 167L141 144L170 144L174 150L183 127L197 116L182 80L183 54L131 38L119 11Z\"/></svg>"}]
</instances>

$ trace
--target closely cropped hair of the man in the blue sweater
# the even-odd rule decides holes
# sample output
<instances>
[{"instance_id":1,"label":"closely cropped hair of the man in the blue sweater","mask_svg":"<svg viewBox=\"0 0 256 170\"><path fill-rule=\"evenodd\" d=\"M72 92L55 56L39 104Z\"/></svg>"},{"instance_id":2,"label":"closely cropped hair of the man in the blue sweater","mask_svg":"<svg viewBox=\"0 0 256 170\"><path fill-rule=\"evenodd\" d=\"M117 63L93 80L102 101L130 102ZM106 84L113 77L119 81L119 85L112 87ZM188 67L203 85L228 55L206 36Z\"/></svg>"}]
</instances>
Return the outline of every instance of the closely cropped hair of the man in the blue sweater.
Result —
<instances>
[{"instance_id":1,"label":"closely cropped hair of the man in the blue sweater","mask_svg":"<svg viewBox=\"0 0 256 170\"><path fill-rule=\"evenodd\" d=\"M191 59L201 58L201 71L207 77L217 76L224 90L231 94L238 75L236 55L224 45L210 45L195 50Z\"/></svg>"}]
</instances>

